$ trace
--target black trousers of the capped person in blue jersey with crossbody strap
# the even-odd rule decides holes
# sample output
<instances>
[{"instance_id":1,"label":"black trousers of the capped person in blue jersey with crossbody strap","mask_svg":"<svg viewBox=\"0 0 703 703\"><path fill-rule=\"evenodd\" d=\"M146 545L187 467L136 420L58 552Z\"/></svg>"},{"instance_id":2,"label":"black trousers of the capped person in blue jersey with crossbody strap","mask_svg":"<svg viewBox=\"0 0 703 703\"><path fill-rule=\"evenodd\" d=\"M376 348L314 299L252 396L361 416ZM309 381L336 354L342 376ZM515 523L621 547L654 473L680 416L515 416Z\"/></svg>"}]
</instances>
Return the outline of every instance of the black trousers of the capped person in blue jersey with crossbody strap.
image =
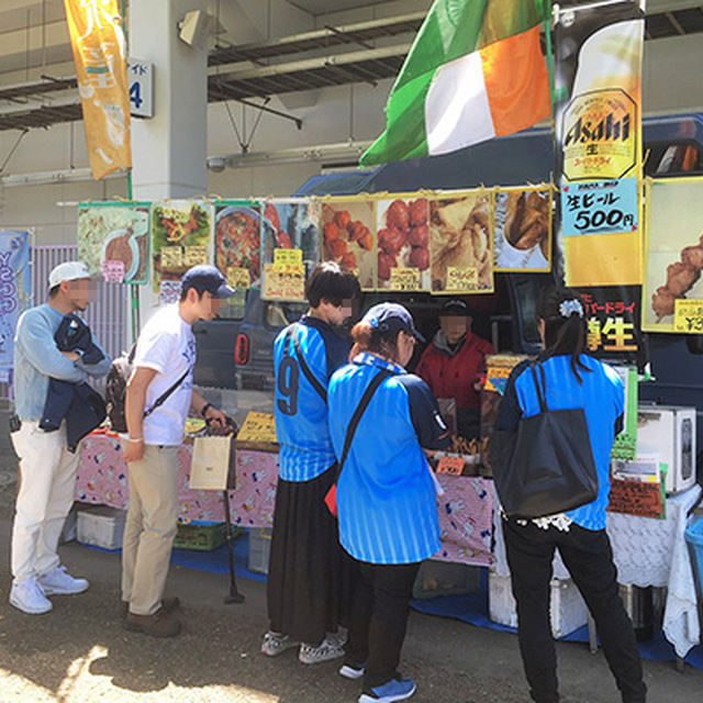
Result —
<instances>
[{"instance_id":1,"label":"black trousers of the capped person in blue jersey with crossbody strap","mask_svg":"<svg viewBox=\"0 0 703 703\"><path fill-rule=\"evenodd\" d=\"M364 689L399 676L400 652L408 628L410 599L417 563L359 561L359 580L352 600L347 661L366 662Z\"/></svg>"}]
</instances>

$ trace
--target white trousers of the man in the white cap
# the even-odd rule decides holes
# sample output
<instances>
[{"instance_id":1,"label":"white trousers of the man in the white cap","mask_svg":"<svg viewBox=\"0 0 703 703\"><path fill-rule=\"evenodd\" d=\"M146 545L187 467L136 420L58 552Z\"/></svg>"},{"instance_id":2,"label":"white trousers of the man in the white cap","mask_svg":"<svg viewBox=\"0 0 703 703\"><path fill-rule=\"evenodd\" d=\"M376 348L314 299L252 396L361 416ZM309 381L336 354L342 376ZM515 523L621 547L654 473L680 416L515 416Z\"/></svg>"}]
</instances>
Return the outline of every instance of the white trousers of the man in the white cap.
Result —
<instances>
[{"instance_id":1,"label":"white trousers of the man in the white cap","mask_svg":"<svg viewBox=\"0 0 703 703\"><path fill-rule=\"evenodd\" d=\"M66 423L55 432L22 422L11 435L22 481L12 526L12 576L41 577L59 565L58 538L74 504L79 449L66 448Z\"/></svg>"}]
</instances>

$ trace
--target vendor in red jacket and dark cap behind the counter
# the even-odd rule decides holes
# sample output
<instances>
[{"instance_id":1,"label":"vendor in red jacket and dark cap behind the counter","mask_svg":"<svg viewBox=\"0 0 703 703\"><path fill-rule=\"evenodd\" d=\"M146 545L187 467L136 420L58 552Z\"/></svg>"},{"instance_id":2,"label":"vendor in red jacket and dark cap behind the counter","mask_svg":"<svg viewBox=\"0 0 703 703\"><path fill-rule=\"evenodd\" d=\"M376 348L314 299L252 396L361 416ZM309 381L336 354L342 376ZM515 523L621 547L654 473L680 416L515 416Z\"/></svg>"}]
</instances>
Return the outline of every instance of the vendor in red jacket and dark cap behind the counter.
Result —
<instances>
[{"instance_id":1,"label":"vendor in red jacket and dark cap behind the counter","mask_svg":"<svg viewBox=\"0 0 703 703\"><path fill-rule=\"evenodd\" d=\"M471 332L471 311L453 298L442 305L439 330L424 350L415 372L438 400L456 401L457 434L478 438L481 429L481 378L493 346Z\"/></svg>"}]
</instances>

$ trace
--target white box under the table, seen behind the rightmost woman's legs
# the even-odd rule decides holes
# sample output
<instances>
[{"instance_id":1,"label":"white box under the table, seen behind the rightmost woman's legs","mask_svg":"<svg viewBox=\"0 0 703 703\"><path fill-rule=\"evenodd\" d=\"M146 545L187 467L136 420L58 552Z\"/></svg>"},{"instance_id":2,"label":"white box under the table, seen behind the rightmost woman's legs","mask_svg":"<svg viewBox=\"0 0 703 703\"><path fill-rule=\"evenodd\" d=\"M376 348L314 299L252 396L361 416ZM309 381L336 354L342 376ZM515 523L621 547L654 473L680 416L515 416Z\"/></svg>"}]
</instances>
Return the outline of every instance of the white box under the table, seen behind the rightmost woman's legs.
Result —
<instances>
[{"instance_id":1,"label":"white box under the table, seen behind the rightmost woman's legs","mask_svg":"<svg viewBox=\"0 0 703 703\"><path fill-rule=\"evenodd\" d=\"M550 585L551 634L557 638L566 637L587 624L588 609L571 579L553 579ZM517 627L515 599L509 576L489 573L488 610L494 623Z\"/></svg>"}]
</instances>

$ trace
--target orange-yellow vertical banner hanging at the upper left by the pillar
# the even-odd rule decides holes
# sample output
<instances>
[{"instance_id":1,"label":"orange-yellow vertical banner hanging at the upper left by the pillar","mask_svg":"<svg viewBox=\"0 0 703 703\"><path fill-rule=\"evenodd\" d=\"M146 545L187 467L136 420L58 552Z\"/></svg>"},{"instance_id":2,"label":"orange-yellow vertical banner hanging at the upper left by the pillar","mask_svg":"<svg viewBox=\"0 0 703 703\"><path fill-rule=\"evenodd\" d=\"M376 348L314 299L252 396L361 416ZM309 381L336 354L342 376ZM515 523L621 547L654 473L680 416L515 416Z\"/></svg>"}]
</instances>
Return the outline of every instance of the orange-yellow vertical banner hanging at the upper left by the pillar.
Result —
<instances>
[{"instance_id":1,"label":"orange-yellow vertical banner hanging at the upper left by the pillar","mask_svg":"<svg viewBox=\"0 0 703 703\"><path fill-rule=\"evenodd\" d=\"M125 42L116 0L64 0L90 168L132 165Z\"/></svg>"}]
</instances>

